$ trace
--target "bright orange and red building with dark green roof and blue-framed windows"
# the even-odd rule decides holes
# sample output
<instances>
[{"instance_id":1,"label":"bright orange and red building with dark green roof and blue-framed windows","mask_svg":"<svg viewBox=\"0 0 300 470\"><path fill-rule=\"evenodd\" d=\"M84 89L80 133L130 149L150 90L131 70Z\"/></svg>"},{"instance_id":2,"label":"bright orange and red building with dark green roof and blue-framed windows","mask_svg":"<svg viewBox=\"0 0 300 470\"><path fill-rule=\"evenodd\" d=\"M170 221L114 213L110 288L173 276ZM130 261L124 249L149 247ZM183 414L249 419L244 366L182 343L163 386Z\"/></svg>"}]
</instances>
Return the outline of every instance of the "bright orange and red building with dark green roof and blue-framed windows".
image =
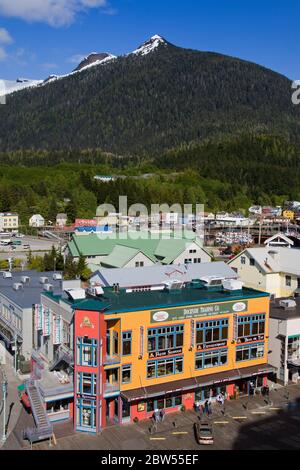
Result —
<instances>
[{"instance_id":1,"label":"bright orange and red building with dark green roof and blue-framed windows","mask_svg":"<svg viewBox=\"0 0 300 470\"><path fill-rule=\"evenodd\" d=\"M74 427L97 433L195 401L249 394L268 364L269 295L238 281L156 292L68 290L74 311Z\"/></svg>"}]
</instances>

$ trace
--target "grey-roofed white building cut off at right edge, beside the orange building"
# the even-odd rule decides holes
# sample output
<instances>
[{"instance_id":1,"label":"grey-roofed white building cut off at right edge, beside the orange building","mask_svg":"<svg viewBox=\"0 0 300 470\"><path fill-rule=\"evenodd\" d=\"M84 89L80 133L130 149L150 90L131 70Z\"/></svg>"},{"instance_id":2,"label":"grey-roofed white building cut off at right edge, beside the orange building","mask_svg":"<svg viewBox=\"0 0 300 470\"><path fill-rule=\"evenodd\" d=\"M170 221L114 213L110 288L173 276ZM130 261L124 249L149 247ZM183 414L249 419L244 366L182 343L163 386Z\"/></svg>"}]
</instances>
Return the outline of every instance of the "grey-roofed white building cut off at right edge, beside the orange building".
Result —
<instances>
[{"instance_id":1,"label":"grey-roofed white building cut off at right edge, beside the orange building","mask_svg":"<svg viewBox=\"0 0 300 470\"><path fill-rule=\"evenodd\" d=\"M269 362L276 368L279 383L297 383L300 378L300 300L271 302Z\"/></svg>"}]
</instances>

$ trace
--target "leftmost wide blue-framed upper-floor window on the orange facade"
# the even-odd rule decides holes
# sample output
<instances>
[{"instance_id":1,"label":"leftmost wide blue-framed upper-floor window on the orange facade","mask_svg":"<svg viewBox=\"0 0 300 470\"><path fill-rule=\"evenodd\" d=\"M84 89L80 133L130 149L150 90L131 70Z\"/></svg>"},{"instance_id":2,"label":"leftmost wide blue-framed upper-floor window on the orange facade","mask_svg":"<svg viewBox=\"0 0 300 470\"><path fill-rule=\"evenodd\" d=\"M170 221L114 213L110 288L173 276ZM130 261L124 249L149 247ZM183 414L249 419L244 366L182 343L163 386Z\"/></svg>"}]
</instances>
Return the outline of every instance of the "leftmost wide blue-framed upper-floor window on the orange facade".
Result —
<instances>
[{"instance_id":1,"label":"leftmost wide blue-framed upper-floor window on the orange facade","mask_svg":"<svg viewBox=\"0 0 300 470\"><path fill-rule=\"evenodd\" d=\"M184 326L168 326L148 330L148 352L164 351L183 346Z\"/></svg>"}]
</instances>

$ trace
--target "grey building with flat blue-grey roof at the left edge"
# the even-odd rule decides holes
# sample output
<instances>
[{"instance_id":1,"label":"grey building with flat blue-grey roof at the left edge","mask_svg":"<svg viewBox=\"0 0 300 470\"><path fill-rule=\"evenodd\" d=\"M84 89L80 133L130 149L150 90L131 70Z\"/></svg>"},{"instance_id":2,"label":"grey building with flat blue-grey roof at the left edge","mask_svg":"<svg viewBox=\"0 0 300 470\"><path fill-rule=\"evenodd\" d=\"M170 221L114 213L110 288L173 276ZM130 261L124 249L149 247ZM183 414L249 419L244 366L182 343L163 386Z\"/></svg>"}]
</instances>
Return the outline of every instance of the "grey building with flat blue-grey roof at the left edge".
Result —
<instances>
[{"instance_id":1,"label":"grey building with flat blue-grey roof at the left edge","mask_svg":"<svg viewBox=\"0 0 300 470\"><path fill-rule=\"evenodd\" d=\"M60 279L56 280L59 277ZM55 279L54 279L55 278ZM0 273L0 338L26 360L34 348L34 312L45 289L61 293L61 275L36 271Z\"/></svg>"}]
</instances>

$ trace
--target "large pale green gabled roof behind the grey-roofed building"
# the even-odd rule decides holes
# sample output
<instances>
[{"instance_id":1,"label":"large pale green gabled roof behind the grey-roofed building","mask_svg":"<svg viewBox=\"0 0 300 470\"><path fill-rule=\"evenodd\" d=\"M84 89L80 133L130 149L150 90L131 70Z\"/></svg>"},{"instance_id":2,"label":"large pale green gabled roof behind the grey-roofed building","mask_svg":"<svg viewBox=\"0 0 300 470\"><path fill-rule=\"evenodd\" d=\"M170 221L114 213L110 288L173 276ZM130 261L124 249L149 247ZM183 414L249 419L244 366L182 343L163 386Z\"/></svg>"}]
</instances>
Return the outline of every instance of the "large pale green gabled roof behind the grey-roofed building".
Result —
<instances>
[{"instance_id":1,"label":"large pale green gabled roof behind the grey-roofed building","mask_svg":"<svg viewBox=\"0 0 300 470\"><path fill-rule=\"evenodd\" d=\"M200 240L194 234L193 236L192 239L177 239L176 236L168 239L150 238L151 235L147 232L141 232L136 239L128 237L127 234L74 235L68 247L73 257L79 257L80 253L85 257L111 256L109 262L105 262L110 266L122 267L126 264L126 260L129 261L132 258L129 258L129 250L122 250L120 247L142 252L154 263L160 260L164 264L170 264L182 253L187 244L195 242L201 246ZM118 251L115 251L116 247L119 247ZM118 255L121 257L120 261L117 259ZM124 264L122 264L123 260L125 260Z\"/></svg>"}]
</instances>

